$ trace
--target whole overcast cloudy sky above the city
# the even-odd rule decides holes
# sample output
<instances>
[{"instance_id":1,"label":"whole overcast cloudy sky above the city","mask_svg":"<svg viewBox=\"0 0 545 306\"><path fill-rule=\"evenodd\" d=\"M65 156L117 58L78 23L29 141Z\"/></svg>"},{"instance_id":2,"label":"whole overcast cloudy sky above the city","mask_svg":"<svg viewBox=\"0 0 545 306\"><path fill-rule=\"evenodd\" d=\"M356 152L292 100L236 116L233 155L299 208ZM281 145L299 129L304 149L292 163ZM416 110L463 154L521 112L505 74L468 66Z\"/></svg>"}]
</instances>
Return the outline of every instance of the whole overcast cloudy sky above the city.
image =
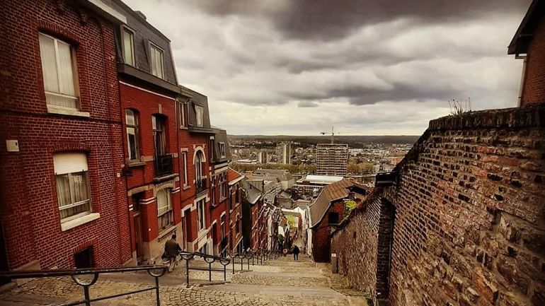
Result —
<instances>
[{"instance_id":1,"label":"whole overcast cloudy sky above the city","mask_svg":"<svg viewBox=\"0 0 545 306\"><path fill-rule=\"evenodd\" d=\"M124 0L171 39L178 82L229 134L421 134L515 107L530 0Z\"/></svg>"}]
</instances>

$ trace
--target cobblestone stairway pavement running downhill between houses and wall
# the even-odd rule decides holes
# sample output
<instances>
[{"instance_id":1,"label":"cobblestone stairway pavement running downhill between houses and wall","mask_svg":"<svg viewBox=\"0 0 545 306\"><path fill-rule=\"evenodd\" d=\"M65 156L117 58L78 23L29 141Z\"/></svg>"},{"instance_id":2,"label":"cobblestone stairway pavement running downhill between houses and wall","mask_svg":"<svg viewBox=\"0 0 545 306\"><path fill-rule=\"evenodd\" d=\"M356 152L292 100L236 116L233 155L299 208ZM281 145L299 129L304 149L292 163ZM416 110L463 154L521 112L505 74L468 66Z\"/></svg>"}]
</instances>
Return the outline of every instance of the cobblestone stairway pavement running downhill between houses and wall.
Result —
<instances>
[{"instance_id":1,"label":"cobblestone stairway pavement running downhill between houses and wall","mask_svg":"<svg viewBox=\"0 0 545 306\"><path fill-rule=\"evenodd\" d=\"M192 262L192 266L207 266ZM214 266L222 268L222 266ZM281 257L263 266L250 265L250 271L236 267L226 273L212 272L209 283L208 271L191 270L190 288L185 286L185 264L178 265L172 273L160 278L161 305L241 305L241 306L366 306L365 296L350 290L342 276L331 274L325 264L315 264L307 257L294 262L292 257ZM154 279L147 273L122 273L101 276L91 287L91 298L139 290L151 286ZM29 281L18 288L0 294L0 305L38 306L57 305L62 302L81 300L83 289L71 278L40 278ZM97 306L143 306L154 305L154 291L137 293L93 303Z\"/></svg>"}]
</instances>

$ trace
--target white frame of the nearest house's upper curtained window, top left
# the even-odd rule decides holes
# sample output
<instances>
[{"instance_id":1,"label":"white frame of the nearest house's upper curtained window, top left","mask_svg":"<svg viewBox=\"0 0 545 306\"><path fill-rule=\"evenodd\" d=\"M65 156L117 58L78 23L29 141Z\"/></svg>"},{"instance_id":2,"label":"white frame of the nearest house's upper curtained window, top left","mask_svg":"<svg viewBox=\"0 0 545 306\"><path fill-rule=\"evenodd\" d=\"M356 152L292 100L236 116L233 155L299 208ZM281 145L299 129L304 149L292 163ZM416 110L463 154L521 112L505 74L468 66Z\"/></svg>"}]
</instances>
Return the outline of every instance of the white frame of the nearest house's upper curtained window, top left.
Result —
<instances>
[{"instance_id":1,"label":"white frame of the nearest house's upper curtained window, top left","mask_svg":"<svg viewBox=\"0 0 545 306\"><path fill-rule=\"evenodd\" d=\"M53 40L54 49L55 49L55 65L57 66L57 82L58 82L58 85L59 85L59 93L54 93L52 91L45 90L45 76L42 75L43 82L44 82L45 101L47 102L47 96L48 95L56 95L56 96L59 96L59 97L62 97L62 98L73 99L74 100L74 105L76 105L76 107L74 107L74 108L73 107L64 107L64 106L60 106L60 105L50 104L50 102L47 102L47 105L49 105L51 107L54 107L54 108L57 108L57 109L61 109L61 110L80 110L81 105L80 105L80 101L79 101L78 69L77 69L77 62L76 62L76 51L74 49L74 46L70 45L68 42L64 42L63 40L59 40L57 37L47 35L45 33L40 32L40 33L38 33L38 35L48 37L48 38ZM59 75L59 66L60 66L60 64L59 64L59 47L58 47L59 43L67 45L70 48L72 81L74 82L74 95L67 95L67 94L62 93L62 91L63 91L62 86L63 85L60 82L61 77ZM38 44L39 44L39 42L38 42ZM42 63L41 58L40 58L40 64L42 65L42 69L43 69L43 63Z\"/></svg>"}]
</instances>

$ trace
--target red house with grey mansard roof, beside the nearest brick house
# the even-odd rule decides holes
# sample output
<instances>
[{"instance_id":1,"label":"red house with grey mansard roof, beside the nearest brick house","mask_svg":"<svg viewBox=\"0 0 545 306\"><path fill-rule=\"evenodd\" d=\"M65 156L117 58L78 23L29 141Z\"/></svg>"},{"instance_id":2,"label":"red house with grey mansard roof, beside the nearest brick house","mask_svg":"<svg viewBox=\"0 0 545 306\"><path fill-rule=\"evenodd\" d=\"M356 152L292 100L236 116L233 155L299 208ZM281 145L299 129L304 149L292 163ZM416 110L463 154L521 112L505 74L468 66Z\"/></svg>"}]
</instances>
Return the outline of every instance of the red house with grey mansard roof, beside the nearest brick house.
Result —
<instances>
[{"instance_id":1,"label":"red house with grey mansard roof, beside the nearest brick house","mask_svg":"<svg viewBox=\"0 0 545 306\"><path fill-rule=\"evenodd\" d=\"M120 0L117 72L123 120L127 204L134 262L158 261L173 233L183 240L180 216L178 118L182 97L170 41L144 14Z\"/></svg>"}]
</instances>

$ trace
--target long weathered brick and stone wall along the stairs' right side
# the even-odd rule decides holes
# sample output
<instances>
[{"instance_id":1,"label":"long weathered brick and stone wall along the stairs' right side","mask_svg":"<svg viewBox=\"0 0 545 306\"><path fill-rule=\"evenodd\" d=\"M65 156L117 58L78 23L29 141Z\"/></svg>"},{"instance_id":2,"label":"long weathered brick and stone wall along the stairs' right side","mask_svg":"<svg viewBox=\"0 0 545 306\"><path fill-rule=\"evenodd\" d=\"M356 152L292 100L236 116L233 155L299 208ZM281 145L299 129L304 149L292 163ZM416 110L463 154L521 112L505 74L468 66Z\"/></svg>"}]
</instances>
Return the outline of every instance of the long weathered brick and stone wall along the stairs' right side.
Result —
<instances>
[{"instance_id":1,"label":"long weathered brick and stone wall along the stairs' right side","mask_svg":"<svg viewBox=\"0 0 545 306\"><path fill-rule=\"evenodd\" d=\"M396 210L389 305L545 305L544 139L543 105L433 120L397 184L333 234L339 271L377 298L386 200Z\"/></svg>"}]
</instances>

